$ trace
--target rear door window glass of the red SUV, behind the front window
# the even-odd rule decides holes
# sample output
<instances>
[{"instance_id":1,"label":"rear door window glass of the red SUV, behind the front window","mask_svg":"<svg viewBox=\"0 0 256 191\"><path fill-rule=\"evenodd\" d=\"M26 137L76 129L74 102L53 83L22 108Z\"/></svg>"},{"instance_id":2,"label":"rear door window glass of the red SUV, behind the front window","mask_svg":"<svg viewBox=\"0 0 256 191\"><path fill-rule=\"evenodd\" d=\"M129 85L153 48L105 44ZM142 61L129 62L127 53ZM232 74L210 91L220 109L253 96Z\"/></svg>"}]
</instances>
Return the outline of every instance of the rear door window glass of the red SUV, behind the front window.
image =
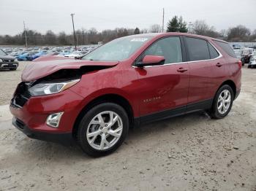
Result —
<instances>
[{"instance_id":1,"label":"rear door window glass of the red SUV, behind the front window","mask_svg":"<svg viewBox=\"0 0 256 191\"><path fill-rule=\"evenodd\" d=\"M203 39L187 37L187 48L190 61L203 61L210 59L207 42Z\"/></svg>"}]
</instances>

